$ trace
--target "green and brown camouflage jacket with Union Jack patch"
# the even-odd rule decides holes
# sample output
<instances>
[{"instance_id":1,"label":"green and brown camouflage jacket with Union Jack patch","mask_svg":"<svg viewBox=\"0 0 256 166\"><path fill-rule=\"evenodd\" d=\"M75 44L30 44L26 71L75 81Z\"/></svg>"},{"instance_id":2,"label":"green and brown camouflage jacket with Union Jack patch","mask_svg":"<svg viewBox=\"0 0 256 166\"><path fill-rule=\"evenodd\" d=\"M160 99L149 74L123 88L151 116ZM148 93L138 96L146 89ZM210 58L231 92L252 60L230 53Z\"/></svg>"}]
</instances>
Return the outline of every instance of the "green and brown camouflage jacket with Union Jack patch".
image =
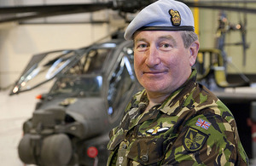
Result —
<instances>
[{"instance_id":1,"label":"green and brown camouflage jacket with Union Jack patch","mask_svg":"<svg viewBox=\"0 0 256 166\"><path fill-rule=\"evenodd\" d=\"M108 165L248 164L232 113L195 77L148 112L145 90L134 95L110 132Z\"/></svg>"}]
</instances>

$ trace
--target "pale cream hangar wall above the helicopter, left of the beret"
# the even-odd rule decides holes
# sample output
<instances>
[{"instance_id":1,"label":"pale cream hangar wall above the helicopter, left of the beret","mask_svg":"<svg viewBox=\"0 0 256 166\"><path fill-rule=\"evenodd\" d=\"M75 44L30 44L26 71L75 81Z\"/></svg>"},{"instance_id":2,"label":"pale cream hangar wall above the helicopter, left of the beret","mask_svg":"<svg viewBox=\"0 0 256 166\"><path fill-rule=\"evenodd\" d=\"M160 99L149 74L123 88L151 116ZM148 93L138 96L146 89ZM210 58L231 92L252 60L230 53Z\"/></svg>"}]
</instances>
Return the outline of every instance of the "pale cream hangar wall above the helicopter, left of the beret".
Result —
<instances>
[{"instance_id":1,"label":"pale cream hangar wall above the helicopter, left of the beret","mask_svg":"<svg viewBox=\"0 0 256 166\"><path fill-rule=\"evenodd\" d=\"M108 25L57 24L0 26L0 88L9 88L32 54L79 49L108 34Z\"/></svg>"}]
</instances>

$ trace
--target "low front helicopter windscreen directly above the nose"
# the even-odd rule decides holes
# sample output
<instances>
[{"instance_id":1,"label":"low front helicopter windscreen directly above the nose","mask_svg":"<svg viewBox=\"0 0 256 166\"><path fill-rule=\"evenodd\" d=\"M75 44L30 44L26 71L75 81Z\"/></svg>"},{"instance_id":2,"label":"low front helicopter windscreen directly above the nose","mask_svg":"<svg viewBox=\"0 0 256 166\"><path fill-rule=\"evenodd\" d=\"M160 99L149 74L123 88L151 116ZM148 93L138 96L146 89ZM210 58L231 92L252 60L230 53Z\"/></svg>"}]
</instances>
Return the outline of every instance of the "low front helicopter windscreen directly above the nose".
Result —
<instances>
[{"instance_id":1,"label":"low front helicopter windscreen directly above the nose","mask_svg":"<svg viewBox=\"0 0 256 166\"><path fill-rule=\"evenodd\" d=\"M60 77L50 94L72 94L72 95L100 95L102 89L102 76L97 77Z\"/></svg>"}]
</instances>

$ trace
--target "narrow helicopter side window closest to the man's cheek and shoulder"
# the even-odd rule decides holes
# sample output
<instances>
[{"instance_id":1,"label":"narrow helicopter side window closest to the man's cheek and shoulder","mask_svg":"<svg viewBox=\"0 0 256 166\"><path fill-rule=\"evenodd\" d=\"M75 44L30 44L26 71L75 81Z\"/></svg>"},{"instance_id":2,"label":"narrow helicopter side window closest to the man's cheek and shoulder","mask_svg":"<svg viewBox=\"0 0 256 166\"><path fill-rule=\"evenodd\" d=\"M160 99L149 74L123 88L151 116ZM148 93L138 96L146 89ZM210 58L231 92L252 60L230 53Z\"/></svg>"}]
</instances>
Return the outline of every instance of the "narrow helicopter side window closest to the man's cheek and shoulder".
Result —
<instances>
[{"instance_id":1,"label":"narrow helicopter side window closest to the man's cheek and shoulder","mask_svg":"<svg viewBox=\"0 0 256 166\"><path fill-rule=\"evenodd\" d=\"M125 94L131 89L134 76L131 71L131 63L127 57L123 57L116 67L109 81L108 90L108 115L114 116L125 99Z\"/></svg>"}]
</instances>

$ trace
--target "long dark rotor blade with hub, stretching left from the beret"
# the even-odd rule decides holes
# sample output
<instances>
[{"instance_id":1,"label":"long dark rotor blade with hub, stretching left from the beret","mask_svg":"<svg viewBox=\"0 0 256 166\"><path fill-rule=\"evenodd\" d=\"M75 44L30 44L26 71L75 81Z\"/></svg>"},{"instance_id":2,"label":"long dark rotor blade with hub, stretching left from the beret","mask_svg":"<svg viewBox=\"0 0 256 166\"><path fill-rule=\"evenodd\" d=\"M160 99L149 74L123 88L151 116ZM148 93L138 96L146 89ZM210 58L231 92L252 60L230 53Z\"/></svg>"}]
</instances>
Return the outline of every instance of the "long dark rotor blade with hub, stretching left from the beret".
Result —
<instances>
[{"instance_id":1,"label":"long dark rotor blade with hub, stretching left from the beret","mask_svg":"<svg viewBox=\"0 0 256 166\"><path fill-rule=\"evenodd\" d=\"M15 14L15 16L4 15L0 23L9 21L31 20L41 17L56 16L62 14L79 14L94 12L102 9L120 10L127 13L135 13L156 0L117 0L108 3L86 3L86 4L61 4L44 6L24 6L24 7L0 7L1 14Z\"/></svg>"}]
</instances>

